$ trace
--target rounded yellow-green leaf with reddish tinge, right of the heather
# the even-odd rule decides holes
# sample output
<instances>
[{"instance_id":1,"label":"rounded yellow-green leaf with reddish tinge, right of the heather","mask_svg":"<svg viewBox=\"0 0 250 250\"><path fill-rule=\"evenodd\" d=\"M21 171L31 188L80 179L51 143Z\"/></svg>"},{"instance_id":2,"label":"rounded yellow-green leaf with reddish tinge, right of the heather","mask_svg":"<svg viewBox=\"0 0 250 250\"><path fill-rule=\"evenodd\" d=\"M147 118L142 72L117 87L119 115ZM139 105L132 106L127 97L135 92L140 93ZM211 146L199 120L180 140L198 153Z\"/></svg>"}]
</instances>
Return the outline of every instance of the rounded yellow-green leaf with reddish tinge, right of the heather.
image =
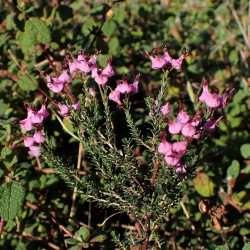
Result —
<instances>
[{"instance_id":1,"label":"rounded yellow-green leaf with reddish tinge, right of the heather","mask_svg":"<svg viewBox=\"0 0 250 250\"><path fill-rule=\"evenodd\" d=\"M193 181L194 187L200 195L204 197L211 197L214 195L215 184L206 173L198 173Z\"/></svg>"}]
</instances>

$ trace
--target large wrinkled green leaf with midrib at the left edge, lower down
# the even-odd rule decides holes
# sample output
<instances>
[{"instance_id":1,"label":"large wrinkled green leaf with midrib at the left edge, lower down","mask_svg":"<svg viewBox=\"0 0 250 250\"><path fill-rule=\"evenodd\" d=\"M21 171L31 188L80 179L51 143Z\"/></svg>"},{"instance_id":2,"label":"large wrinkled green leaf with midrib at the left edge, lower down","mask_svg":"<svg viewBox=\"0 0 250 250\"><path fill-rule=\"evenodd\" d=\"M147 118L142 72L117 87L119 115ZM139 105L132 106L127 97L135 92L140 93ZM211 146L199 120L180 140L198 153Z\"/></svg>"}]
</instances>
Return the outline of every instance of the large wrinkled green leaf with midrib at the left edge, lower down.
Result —
<instances>
[{"instance_id":1,"label":"large wrinkled green leaf with midrib at the left edge, lower down","mask_svg":"<svg viewBox=\"0 0 250 250\"><path fill-rule=\"evenodd\" d=\"M24 188L17 182L4 183L0 187L0 217L12 220L23 204Z\"/></svg>"}]
</instances>

